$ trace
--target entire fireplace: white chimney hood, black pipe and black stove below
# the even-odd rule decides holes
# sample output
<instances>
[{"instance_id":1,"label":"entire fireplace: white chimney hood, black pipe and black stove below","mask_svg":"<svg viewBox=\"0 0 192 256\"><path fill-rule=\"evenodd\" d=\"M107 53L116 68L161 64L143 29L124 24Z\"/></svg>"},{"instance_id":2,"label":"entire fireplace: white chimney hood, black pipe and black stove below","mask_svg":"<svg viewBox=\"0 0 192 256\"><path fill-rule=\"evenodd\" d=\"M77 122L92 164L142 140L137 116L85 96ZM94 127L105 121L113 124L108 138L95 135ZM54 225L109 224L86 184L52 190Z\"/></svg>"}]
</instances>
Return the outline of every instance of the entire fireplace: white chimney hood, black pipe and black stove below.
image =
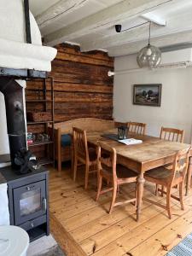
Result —
<instances>
[{"instance_id":1,"label":"entire fireplace: white chimney hood, black pipe and black stove below","mask_svg":"<svg viewBox=\"0 0 192 256\"><path fill-rule=\"evenodd\" d=\"M3 53L0 58L0 92L5 100L11 161L11 166L0 168L0 174L3 176L0 175L0 184L8 183L10 224L26 230L32 241L39 236L49 235L48 172L44 167L35 170L32 166L27 166L31 172L16 174L23 173L18 172L21 170L18 166L21 166L22 162L19 153L27 149L24 92L18 80L46 78L47 72L51 70L50 61L55 58L56 49L42 45L37 23L29 16L32 14L29 12L28 0L9 2L9 13L20 22L17 22L15 29L16 24L9 22L7 12L1 12L2 20L8 20L8 27L13 26L13 32L9 33L10 37L6 34L5 38L0 38ZM17 37L18 28L25 27L24 15L20 15L23 7L26 32L19 32ZM30 22L34 30L32 34ZM6 31L4 26L3 31ZM23 40L25 34L26 42ZM31 44L32 42L34 44ZM25 155L24 159L26 160Z\"/></svg>"}]
</instances>

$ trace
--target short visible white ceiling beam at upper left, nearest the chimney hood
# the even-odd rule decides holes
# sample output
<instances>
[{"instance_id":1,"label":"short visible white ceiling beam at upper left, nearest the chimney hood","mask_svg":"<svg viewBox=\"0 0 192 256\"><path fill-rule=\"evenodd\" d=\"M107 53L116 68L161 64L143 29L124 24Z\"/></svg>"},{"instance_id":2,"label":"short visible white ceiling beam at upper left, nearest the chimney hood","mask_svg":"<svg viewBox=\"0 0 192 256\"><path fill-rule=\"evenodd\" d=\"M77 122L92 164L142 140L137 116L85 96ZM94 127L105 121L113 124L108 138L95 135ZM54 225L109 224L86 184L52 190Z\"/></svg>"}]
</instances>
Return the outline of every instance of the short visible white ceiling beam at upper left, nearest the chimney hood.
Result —
<instances>
[{"instance_id":1,"label":"short visible white ceiling beam at upper left, nearest the chimney hood","mask_svg":"<svg viewBox=\"0 0 192 256\"><path fill-rule=\"evenodd\" d=\"M84 6L89 0L60 0L57 3L50 6L42 14L36 17L39 28L48 26L53 21L59 20L61 16L68 15L75 9L79 9Z\"/></svg>"}]
</instances>

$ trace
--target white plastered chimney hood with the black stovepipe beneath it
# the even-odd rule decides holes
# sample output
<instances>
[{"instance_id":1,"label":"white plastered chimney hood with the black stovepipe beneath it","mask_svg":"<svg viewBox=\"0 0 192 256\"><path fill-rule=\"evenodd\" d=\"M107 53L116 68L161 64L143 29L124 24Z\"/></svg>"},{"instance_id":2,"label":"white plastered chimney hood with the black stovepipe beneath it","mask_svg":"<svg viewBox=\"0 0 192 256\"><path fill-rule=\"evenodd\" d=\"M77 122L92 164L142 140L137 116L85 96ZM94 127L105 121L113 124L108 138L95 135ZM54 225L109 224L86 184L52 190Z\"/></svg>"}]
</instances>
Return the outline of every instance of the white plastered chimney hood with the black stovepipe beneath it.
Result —
<instances>
[{"instance_id":1,"label":"white plastered chimney hood with the black stovepipe beneath it","mask_svg":"<svg viewBox=\"0 0 192 256\"><path fill-rule=\"evenodd\" d=\"M3 93L12 167L21 155L28 160L24 90L17 79L46 78L56 49L43 46L28 0L2 0L0 15L0 91ZM9 19L9 15L12 19ZM15 21L14 21L15 20ZM26 152L26 153L25 153ZM22 166L23 167L23 166ZM23 169L22 169L23 171Z\"/></svg>"}]
</instances>

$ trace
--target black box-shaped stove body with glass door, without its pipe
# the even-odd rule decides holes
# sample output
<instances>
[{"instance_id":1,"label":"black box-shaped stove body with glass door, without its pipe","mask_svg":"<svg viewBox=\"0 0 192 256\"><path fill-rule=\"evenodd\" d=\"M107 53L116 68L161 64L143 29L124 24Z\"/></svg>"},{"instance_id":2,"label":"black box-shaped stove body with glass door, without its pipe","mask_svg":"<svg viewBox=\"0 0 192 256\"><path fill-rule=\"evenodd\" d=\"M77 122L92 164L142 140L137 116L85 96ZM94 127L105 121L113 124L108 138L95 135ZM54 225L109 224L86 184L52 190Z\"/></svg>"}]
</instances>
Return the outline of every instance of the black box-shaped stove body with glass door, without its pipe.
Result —
<instances>
[{"instance_id":1,"label":"black box-shaped stove body with glass door, without its pipe","mask_svg":"<svg viewBox=\"0 0 192 256\"><path fill-rule=\"evenodd\" d=\"M41 166L19 176L7 166L0 174L8 183L10 224L26 230L30 241L49 236L48 171Z\"/></svg>"}]
</instances>

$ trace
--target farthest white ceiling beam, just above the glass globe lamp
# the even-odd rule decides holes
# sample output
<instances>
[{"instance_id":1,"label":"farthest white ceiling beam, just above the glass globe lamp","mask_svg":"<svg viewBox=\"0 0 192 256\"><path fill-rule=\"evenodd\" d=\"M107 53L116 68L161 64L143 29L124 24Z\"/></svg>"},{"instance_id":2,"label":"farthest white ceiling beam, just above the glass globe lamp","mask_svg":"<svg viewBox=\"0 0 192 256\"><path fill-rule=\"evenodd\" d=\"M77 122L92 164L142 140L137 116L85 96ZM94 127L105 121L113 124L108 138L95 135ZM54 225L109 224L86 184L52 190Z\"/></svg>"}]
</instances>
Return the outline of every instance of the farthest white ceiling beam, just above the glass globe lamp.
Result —
<instances>
[{"instance_id":1,"label":"farthest white ceiling beam, just above the glass globe lamp","mask_svg":"<svg viewBox=\"0 0 192 256\"><path fill-rule=\"evenodd\" d=\"M173 46L177 44L188 44L192 43L192 30L186 32L177 32L166 35L160 38L152 38L151 44L157 47ZM108 49L108 55L120 56L120 55L131 55L135 54L142 49L146 44L146 41L139 41L130 44L122 44L116 47Z\"/></svg>"}]
</instances>

